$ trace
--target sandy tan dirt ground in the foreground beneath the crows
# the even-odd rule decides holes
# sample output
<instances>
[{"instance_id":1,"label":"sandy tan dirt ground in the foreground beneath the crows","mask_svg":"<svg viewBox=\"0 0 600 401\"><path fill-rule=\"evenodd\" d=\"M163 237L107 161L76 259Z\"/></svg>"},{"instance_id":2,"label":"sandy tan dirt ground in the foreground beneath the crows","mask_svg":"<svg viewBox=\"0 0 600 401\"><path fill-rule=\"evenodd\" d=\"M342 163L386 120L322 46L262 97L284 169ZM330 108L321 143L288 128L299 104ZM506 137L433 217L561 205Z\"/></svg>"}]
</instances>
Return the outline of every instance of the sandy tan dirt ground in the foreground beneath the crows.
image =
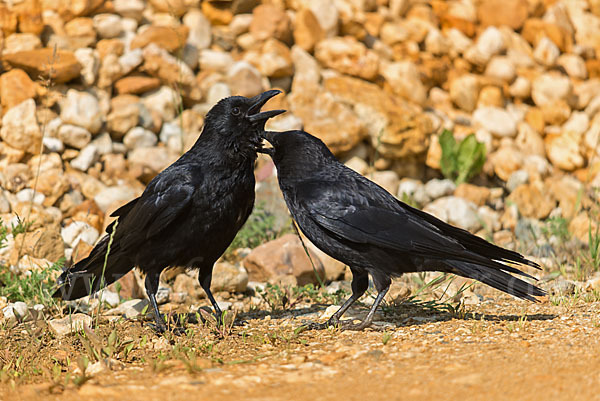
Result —
<instances>
[{"instance_id":1,"label":"sandy tan dirt ground in the foreground beneath the crows","mask_svg":"<svg viewBox=\"0 0 600 401\"><path fill-rule=\"evenodd\" d=\"M62 339L21 324L0 331L2 359L21 355L20 366L36 369L4 375L0 399L600 399L600 302L498 295L460 313L384 308L362 332L298 329L325 309L257 311L222 334L188 324L187 334L164 337L130 320L100 320L92 334ZM74 361L110 344L112 331L112 358L90 357L81 375Z\"/></svg>"}]
</instances>

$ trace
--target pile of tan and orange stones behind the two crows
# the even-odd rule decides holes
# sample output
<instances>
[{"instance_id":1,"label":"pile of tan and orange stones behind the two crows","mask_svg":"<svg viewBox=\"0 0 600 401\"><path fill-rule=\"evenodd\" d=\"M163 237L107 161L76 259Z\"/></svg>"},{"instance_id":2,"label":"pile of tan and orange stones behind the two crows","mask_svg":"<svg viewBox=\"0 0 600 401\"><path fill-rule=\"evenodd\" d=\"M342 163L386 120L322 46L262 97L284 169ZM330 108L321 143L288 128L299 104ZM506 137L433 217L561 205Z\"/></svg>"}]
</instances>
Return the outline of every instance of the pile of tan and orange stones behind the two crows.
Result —
<instances>
[{"instance_id":1,"label":"pile of tan and orange stones behind the two crows","mask_svg":"<svg viewBox=\"0 0 600 401\"><path fill-rule=\"evenodd\" d=\"M289 112L268 128L303 127L452 224L503 245L523 219L568 219L583 242L596 224L596 0L14 0L0 35L0 217L31 223L0 265L81 259L210 107L272 87ZM442 179L444 129L485 144L473 184ZM313 271L270 254L243 261L251 281ZM326 279L343 275L317 259Z\"/></svg>"}]
</instances>

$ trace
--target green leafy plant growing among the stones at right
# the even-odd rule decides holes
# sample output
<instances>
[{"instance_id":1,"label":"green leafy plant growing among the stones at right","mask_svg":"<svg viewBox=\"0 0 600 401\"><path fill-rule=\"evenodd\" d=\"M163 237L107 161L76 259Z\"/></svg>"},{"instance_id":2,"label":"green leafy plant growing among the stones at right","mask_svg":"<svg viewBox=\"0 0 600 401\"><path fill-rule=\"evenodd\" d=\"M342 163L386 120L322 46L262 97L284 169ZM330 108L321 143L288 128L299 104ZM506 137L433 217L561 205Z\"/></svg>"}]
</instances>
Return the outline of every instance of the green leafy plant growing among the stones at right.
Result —
<instances>
[{"instance_id":1,"label":"green leafy plant growing among the stones at right","mask_svg":"<svg viewBox=\"0 0 600 401\"><path fill-rule=\"evenodd\" d=\"M440 165L442 174L446 178L461 184L481 172L485 163L486 149L483 143L477 141L474 134L457 143L454 134L444 130L439 141L442 147Z\"/></svg>"}]
</instances>

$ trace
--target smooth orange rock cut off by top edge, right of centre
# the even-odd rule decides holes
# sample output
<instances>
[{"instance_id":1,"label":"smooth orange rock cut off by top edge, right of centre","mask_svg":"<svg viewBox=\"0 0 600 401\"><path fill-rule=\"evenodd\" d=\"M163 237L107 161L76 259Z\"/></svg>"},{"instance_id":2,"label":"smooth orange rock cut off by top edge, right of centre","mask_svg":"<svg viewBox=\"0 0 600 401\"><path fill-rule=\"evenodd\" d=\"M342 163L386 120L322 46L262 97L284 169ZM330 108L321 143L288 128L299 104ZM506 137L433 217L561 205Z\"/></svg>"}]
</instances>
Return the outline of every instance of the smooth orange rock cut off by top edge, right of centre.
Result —
<instances>
[{"instance_id":1,"label":"smooth orange rock cut off by top edge, right of centre","mask_svg":"<svg viewBox=\"0 0 600 401\"><path fill-rule=\"evenodd\" d=\"M477 8L477 16L483 26L507 25L520 29L527 19L527 0L484 0Z\"/></svg>"}]
</instances>

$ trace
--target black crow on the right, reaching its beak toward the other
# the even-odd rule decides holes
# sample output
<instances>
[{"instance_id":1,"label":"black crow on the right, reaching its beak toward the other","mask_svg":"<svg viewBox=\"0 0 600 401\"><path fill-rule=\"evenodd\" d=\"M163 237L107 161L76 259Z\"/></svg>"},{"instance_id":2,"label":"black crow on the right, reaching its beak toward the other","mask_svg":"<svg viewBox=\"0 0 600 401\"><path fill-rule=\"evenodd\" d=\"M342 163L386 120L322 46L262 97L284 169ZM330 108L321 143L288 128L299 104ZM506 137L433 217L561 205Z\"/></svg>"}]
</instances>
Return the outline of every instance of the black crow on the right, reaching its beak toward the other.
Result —
<instances>
[{"instance_id":1,"label":"black crow on the right, reaching its beak toward the other","mask_svg":"<svg viewBox=\"0 0 600 401\"><path fill-rule=\"evenodd\" d=\"M545 294L508 274L532 278L504 262L539 268L536 263L400 202L340 163L318 138L303 131L264 132L263 136L273 146L263 152L277 167L292 217L319 249L352 271L352 296L326 325L338 324L364 294L369 275L377 298L363 322L352 328L371 324L391 278L402 273L454 273L531 301Z\"/></svg>"}]
</instances>

